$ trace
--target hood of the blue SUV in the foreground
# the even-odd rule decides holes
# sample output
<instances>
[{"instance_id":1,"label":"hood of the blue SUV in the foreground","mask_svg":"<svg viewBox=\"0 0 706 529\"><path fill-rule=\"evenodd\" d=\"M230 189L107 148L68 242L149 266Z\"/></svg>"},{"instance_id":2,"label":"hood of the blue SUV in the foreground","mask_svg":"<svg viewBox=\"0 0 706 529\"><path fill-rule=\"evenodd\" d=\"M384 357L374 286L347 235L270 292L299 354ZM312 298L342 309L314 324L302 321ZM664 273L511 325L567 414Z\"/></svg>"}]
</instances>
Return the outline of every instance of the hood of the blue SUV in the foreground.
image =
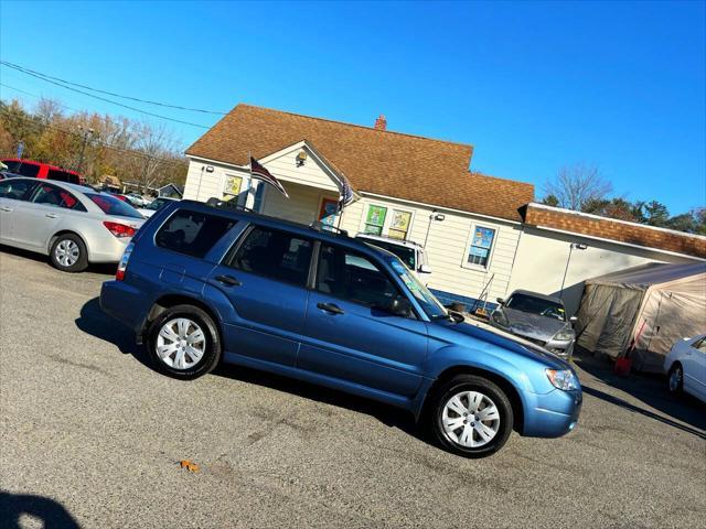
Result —
<instances>
[{"instance_id":1,"label":"hood of the blue SUV in the foreground","mask_svg":"<svg viewBox=\"0 0 706 529\"><path fill-rule=\"evenodd\" d=\"M488 324L475 322L453 323L446 320L435 322L446 326L449 331L453 331L462 336L479 339L488 344L502 347L510 353L542 361L547 367L554 369L569 369L570 366L558 356L539 347L531 342L526 342L517 336L505 333L502 330L492 327Z\"/></svg>"}]
</instances>

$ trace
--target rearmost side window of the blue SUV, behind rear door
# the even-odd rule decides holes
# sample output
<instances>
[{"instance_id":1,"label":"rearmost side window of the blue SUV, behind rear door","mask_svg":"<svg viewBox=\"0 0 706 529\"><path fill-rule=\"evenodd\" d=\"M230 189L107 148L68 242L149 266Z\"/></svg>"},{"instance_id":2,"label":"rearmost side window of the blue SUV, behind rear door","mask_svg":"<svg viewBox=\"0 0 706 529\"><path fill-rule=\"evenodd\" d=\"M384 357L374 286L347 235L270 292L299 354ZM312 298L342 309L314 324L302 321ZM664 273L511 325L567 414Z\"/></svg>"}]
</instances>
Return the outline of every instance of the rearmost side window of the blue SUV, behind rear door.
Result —
<instances>
[{"instance_id":1,"label":"rearmost side window of the blue SUV, behind rear door","mask_svg":"<svg viewBox=\"0 0 706 529\"><path fill-rule=\"evenodd\" d=\"M202 258L235 224L231 218L179 209L157 231L154 241L161 248Z\"/></svg>"}]
</instances>

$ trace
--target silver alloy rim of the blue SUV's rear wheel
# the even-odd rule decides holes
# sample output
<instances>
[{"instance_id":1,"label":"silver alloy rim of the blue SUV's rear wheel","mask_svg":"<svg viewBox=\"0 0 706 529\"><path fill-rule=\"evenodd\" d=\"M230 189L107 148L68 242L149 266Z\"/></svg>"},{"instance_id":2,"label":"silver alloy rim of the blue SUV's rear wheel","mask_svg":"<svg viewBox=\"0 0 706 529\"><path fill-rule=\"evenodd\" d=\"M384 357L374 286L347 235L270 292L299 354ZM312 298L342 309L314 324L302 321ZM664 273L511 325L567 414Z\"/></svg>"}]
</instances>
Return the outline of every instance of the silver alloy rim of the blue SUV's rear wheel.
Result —
<instances>
[{"instance_id":1,"label":"silver alloy rim of the blue SUV's rear wheel","mask_svg":"<svg viewBox=\"0 0 706 529\"><path fill-rule=\"evenodd\" d=\"M157 335L157 356L172 369L190 369L206 350L206 336L188 317L165 322Z\"/></svg>"}]
</instances>

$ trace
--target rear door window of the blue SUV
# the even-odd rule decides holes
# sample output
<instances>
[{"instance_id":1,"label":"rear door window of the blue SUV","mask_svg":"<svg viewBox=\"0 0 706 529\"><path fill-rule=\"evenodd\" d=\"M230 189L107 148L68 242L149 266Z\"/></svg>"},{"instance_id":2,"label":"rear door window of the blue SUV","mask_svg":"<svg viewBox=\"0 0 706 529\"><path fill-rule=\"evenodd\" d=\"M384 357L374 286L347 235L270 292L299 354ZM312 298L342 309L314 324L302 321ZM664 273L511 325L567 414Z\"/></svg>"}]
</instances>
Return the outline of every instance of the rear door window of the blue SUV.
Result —
<instances>
[{"instance_id":1,"label":"rear door window of the blue SUV","mask_svg":"<svg viewBox=\"0 0 706 529\"><path fill-rule=\"evenodd\" d=\"M296 234L255 227L226 264L277 281L306 285L311 240Z\"/></svg>"}]
</instances>

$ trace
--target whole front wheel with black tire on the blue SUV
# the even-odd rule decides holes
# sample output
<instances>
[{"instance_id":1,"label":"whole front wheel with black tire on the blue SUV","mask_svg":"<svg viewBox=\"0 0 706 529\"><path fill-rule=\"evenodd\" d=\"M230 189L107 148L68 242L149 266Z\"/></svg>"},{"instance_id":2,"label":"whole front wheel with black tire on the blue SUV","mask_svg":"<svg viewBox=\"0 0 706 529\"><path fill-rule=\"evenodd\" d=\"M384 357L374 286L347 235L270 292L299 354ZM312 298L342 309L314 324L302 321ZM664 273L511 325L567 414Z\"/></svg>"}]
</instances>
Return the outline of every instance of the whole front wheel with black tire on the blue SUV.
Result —
<instances>
[{"instance_id":1,"label":"whole front wheel with black tire on the blue SUV","mask_svg":"<svg viewBox=\"0 0 706 529\"><path fill-rule=\"evenodd\" d=\"M514 415L510 399L484 377L451 378L434 392L427 409L434 440L442 449L464 457L494 454L512 433Z\"/></svg>"}]
</instances>

